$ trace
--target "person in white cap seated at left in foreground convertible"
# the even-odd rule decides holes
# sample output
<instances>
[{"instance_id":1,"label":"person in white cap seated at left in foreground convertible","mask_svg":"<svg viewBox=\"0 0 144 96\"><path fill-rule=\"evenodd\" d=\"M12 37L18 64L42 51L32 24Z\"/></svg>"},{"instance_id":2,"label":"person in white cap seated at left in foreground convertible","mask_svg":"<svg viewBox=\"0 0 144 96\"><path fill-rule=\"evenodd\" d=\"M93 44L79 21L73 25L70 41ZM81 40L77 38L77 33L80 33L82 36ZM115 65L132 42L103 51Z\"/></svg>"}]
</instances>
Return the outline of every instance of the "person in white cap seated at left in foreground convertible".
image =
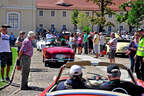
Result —
<instances>
[{"instance_id":1,"label":"person in white cap seated at left in foreground convertible","mask_svg":"<svg viewBox=\"0 0 144 96\"><path fill-rule=\"evenodd\" d=\"M69 71L70 79L61 82L58 85L57 90L86 89L86 82L85 79L82 78L82 74L81 66L73 65Z\"/></svg>"}]
</instances>

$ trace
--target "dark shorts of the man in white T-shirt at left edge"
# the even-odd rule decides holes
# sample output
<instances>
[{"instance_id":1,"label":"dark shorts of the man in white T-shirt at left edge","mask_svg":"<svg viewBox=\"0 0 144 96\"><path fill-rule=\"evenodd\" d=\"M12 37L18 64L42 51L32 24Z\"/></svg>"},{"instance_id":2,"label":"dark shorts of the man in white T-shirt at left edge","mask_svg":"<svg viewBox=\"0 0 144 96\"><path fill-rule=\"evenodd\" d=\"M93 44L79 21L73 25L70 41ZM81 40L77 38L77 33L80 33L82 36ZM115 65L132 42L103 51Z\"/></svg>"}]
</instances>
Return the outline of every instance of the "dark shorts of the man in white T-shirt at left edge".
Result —
<instances>
[{"instance_id":1,"label":"dark shorts of the man in white T-shirt at left edge","mask_svg":"<svg viewBox=\"0 0 144 96\"><path fill-rule=\"evenodd\" d=\"M0 53L0 64L1 67L12 65L12 52L1 52Z\"/></svg>"}]
</instances>

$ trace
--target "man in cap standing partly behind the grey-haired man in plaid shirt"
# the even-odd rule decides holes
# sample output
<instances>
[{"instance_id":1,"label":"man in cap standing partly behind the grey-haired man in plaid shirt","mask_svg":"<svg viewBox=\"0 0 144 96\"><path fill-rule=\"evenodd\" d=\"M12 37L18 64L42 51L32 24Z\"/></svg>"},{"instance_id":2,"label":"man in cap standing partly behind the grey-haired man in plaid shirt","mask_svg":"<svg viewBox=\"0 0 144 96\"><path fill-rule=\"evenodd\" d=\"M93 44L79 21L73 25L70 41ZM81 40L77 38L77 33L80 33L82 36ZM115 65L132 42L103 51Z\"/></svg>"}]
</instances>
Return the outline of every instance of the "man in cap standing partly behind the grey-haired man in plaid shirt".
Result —
<instances>
[{"instance_id":1,"label":"man in cap standing partly behind the grey-haired man in plaid shirt","mask_svg":"<svg viewBox=\"0 0 144 96\"><path fill-rule=\"evenodd\" d=\"M24 41L24 34L25 34L24 31L20 31L19 37L17 37L17 40L16 40L16 45L18 46L18 50L17 50L18 54L19 54L19 50L21 48L22 42Z\"/></svg>"}]
</instances>

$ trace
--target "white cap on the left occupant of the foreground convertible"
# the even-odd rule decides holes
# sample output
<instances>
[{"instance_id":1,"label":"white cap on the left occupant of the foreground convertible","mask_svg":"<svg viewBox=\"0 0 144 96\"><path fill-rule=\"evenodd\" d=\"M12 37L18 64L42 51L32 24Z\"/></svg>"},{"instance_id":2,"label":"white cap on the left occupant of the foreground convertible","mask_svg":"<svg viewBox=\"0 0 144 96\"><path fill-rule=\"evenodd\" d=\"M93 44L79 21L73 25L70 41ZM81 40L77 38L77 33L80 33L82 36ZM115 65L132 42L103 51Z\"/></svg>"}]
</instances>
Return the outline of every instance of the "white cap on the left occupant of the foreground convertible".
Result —
<instances>
[{"instance_id":1,"label":"white cap on the left occupant of the foreground convertible","mask_svg":"<svg viewBox=\"0 0 144 96\"><path fill-rule=\"evenodd\" d=\"M73 65L70 68L70 75L81 75L82 74L82 68L78 65Z\"/></svg>"}]
</instances>

